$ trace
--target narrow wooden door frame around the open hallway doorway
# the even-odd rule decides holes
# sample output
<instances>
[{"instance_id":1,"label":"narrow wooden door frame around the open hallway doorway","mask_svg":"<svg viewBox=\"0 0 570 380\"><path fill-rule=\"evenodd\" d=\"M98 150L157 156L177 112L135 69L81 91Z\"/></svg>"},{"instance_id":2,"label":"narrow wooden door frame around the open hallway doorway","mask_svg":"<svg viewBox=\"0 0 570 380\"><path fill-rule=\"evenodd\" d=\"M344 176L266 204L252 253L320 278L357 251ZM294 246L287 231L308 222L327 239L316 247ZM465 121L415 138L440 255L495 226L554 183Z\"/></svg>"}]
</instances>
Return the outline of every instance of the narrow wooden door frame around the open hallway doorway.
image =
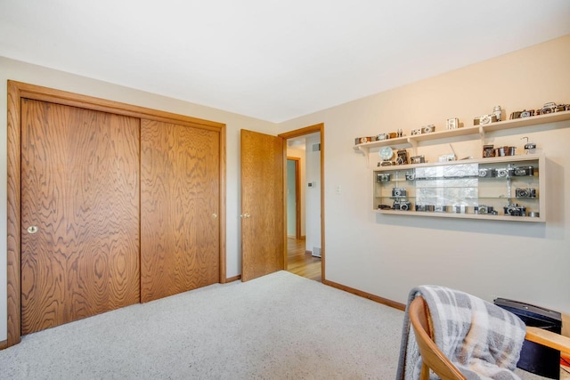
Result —
<instances>
[{"instance_id":1,"label":"narrow wooden door frame around the open hallway doorway","mask_svg":"<svg viewBox=\"0 0 570 380\"><path fill-rule=\"evenodd\" d=\"M325 248L324 248L324 123L305 126L305 128L296 129L285 133L278 134L283 139L283 158L284 165L287 167L287 140L295 137L305 136L305 134L321 133L321 280L325 283ZM283 171L283 213L287 214L287 171ZM287 227L283 229L283 239L285 240L285 249L283 255L285 268L287 268Z\"/></svg>"}]
</instances>

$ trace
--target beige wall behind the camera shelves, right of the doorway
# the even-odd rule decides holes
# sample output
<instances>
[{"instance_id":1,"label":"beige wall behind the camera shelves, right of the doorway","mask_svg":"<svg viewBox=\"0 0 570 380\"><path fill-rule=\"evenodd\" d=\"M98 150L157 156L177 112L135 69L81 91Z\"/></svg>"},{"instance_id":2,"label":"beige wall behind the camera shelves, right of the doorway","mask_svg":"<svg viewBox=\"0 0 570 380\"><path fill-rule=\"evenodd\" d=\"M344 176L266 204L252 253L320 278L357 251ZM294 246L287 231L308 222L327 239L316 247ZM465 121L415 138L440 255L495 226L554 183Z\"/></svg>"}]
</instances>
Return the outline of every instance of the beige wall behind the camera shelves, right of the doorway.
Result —
<instances>
[{"instance_id":1,"label":"beige wall behind the camera shelves, right of the doorway","mask_svg":"<svg viewBox=\"0 0 570 380\"><path fill-rule=\"evenodd\" d=\"M441 130L448 117L472 125L494 105L509 114L547 101L570 103L568 68L565 36L279 125L284 133L325 124L327 279L400 303L411 287L442 284L489 301L502 296L570 312L570 122L496 133L489 140L522 153L521 137L529 136L549 158L546 223L374 214L371 168L353 150L357 136L397 128L409 134L428 124ZM460 158L480 157L479 143L454 148ZM440 145L420 153L434 160L448 150Z\"/></svg>"}]
</instances>

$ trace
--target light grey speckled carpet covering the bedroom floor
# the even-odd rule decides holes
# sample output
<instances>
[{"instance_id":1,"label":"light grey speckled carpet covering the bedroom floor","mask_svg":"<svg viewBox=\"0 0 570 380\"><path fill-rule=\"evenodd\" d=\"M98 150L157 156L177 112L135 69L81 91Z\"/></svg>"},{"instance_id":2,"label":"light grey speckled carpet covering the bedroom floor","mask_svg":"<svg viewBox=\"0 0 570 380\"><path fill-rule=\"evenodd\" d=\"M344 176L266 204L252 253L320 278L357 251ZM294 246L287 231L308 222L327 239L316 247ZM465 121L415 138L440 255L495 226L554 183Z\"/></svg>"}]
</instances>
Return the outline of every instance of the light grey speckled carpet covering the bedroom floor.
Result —
<instances>
[{"instance_id":1,"label":"light grey speckled carpet covering the bedroom floor","mask_svg":"<svg viewBox=\"0 0 570 380\"><path fill-rule=\"evenodd\" d=\"M10 379L394 379L403 312L279 271L110 311L0 351Z\"/></svg>"}]
</instances>

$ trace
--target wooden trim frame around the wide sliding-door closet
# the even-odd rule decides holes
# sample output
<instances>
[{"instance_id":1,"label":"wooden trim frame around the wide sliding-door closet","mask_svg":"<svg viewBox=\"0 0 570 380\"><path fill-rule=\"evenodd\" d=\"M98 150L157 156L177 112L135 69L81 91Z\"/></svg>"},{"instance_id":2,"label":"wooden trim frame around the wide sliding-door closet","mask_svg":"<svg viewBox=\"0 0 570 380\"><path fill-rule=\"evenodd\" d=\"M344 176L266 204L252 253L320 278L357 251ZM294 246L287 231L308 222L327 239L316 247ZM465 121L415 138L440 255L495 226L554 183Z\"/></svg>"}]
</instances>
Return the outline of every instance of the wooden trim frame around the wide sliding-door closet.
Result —
<instances>
[{"instance_id":1,"label":"wooden trim frame around the wide sliding-door closet","mask_svg":"<svg viewBox=\"0 0 570 380\"><path fill-rule=\"evenodd\" d=\"M196 117L187 117L170 112L147 109L117 101L107 101L77 93L68 93L39 85L29 85L16 81L8 81L8 125L7 125L7 340L2 344L5 347L20 343L20 181L21 181L21 128L20 128L20 101L22 98L35 101L47 101L70 107L93 109L109 112L116 115L138 117L178 125L187 125L208 129L219 133L219 221L220 221L220 282L226 282L226 252L225 252L225 125ZM5 348L5 347L0 347Z\"/></svg>"}]
</instances>

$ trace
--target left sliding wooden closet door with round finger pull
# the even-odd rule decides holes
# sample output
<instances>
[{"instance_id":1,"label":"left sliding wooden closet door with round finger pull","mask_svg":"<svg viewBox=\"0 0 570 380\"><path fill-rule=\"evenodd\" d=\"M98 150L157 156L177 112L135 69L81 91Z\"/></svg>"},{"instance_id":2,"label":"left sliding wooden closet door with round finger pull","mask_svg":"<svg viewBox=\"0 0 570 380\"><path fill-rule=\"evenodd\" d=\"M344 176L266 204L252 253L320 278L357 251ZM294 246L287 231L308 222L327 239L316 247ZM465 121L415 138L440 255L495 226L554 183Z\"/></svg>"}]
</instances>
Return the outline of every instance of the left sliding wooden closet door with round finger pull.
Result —
<instances>
[{"instance_id":1,"label":"left sliding wooden closet door with round finger pull","mask_svg":"<svg viewBox=\"0 0 570 380\"><path fill-rule=\"evenodd\" d=\"M139 302L139 119L21 101L21 333Z\"/></svg>"}]
</instances>

